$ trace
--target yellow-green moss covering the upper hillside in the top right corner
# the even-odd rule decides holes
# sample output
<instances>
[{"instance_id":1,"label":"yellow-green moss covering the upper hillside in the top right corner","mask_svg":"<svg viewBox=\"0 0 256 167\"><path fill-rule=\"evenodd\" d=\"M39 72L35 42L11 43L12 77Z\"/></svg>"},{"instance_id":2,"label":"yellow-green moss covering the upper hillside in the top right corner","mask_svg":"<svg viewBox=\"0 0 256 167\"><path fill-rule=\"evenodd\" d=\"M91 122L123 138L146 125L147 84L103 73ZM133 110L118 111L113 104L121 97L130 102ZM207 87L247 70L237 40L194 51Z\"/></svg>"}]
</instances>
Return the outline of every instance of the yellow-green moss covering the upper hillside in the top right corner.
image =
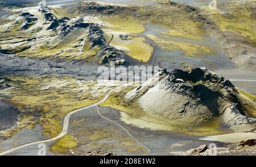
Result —
<instances>
[{"instance_id":1,"label":"yellow-green moss covering the upper hillside in the top right corner","mask_svg":"<svg viewBox=\"0 0 256 167\"><path fill-rule=\"evenodd\" d=\"M223 6L225 11L228 11L228 15L220 10L209 11L208 7L203 9L222 32L231 32L241 40L256 45L255 3L253 6L250 1L245 1L243 4L241 2Z\"/></svg>"}]
</instances>

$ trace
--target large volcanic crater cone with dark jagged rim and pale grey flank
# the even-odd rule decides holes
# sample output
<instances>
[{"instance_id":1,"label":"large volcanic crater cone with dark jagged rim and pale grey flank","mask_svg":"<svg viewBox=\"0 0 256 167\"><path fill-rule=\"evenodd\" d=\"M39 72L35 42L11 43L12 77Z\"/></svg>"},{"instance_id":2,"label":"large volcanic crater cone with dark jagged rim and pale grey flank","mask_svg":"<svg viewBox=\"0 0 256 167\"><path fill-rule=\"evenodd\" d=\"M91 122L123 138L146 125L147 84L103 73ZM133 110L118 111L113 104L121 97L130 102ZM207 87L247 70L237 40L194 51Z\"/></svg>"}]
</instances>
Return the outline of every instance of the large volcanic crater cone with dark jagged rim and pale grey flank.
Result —
<instances>
[{"instance_id":1,"label":"large volcanic crater cone with dark jagged rim and pale grey flank","mask_svg":"<svg viewBox=\"0 0 256 167\"><path fill-rule=\"evenodd\" d=\"M176 69L170 73L160 69L127 93L126 99L138 103L148 115L184 126L199 126L220 118L226 127L248 124L244 131L255 128L255 118L250 116L255 116L256 104L238 93L229 80L205 68ZM250 110L246 110L245 103Z\"/></svg>"}]
</instances>

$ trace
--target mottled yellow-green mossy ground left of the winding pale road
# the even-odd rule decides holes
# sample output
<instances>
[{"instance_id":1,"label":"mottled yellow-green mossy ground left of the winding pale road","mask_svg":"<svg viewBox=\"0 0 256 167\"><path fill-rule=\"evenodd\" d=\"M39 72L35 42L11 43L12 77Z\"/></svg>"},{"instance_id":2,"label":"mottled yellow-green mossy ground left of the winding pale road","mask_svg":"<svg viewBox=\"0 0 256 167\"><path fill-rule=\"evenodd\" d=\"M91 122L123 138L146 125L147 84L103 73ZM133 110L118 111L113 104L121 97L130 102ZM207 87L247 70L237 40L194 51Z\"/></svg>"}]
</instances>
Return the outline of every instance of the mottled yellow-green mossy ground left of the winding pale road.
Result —
<instances>
[{"instance_id":1,"label":"mottled yellow-green mossy ground left of the winding pale road","mask_svg":"<svg viewBox=\"0 0 256 167\"><path fill-rule=\"evenodd\" d=\"M26 119L38 113L40 117L34 118L32 123L42 124L43 132L48 136L57 136L60 133L61 120L65 114L99 101L106 91L99 91L100 87L95 88L96 82L79 81L72 77L38 76L9 79L11 87L1 90L2 98L8 97L6 101L22 111ZM94 92L93 89L98 91ZM20 123L26 124L22 120Z\"/></svg>"}]
</instances>

